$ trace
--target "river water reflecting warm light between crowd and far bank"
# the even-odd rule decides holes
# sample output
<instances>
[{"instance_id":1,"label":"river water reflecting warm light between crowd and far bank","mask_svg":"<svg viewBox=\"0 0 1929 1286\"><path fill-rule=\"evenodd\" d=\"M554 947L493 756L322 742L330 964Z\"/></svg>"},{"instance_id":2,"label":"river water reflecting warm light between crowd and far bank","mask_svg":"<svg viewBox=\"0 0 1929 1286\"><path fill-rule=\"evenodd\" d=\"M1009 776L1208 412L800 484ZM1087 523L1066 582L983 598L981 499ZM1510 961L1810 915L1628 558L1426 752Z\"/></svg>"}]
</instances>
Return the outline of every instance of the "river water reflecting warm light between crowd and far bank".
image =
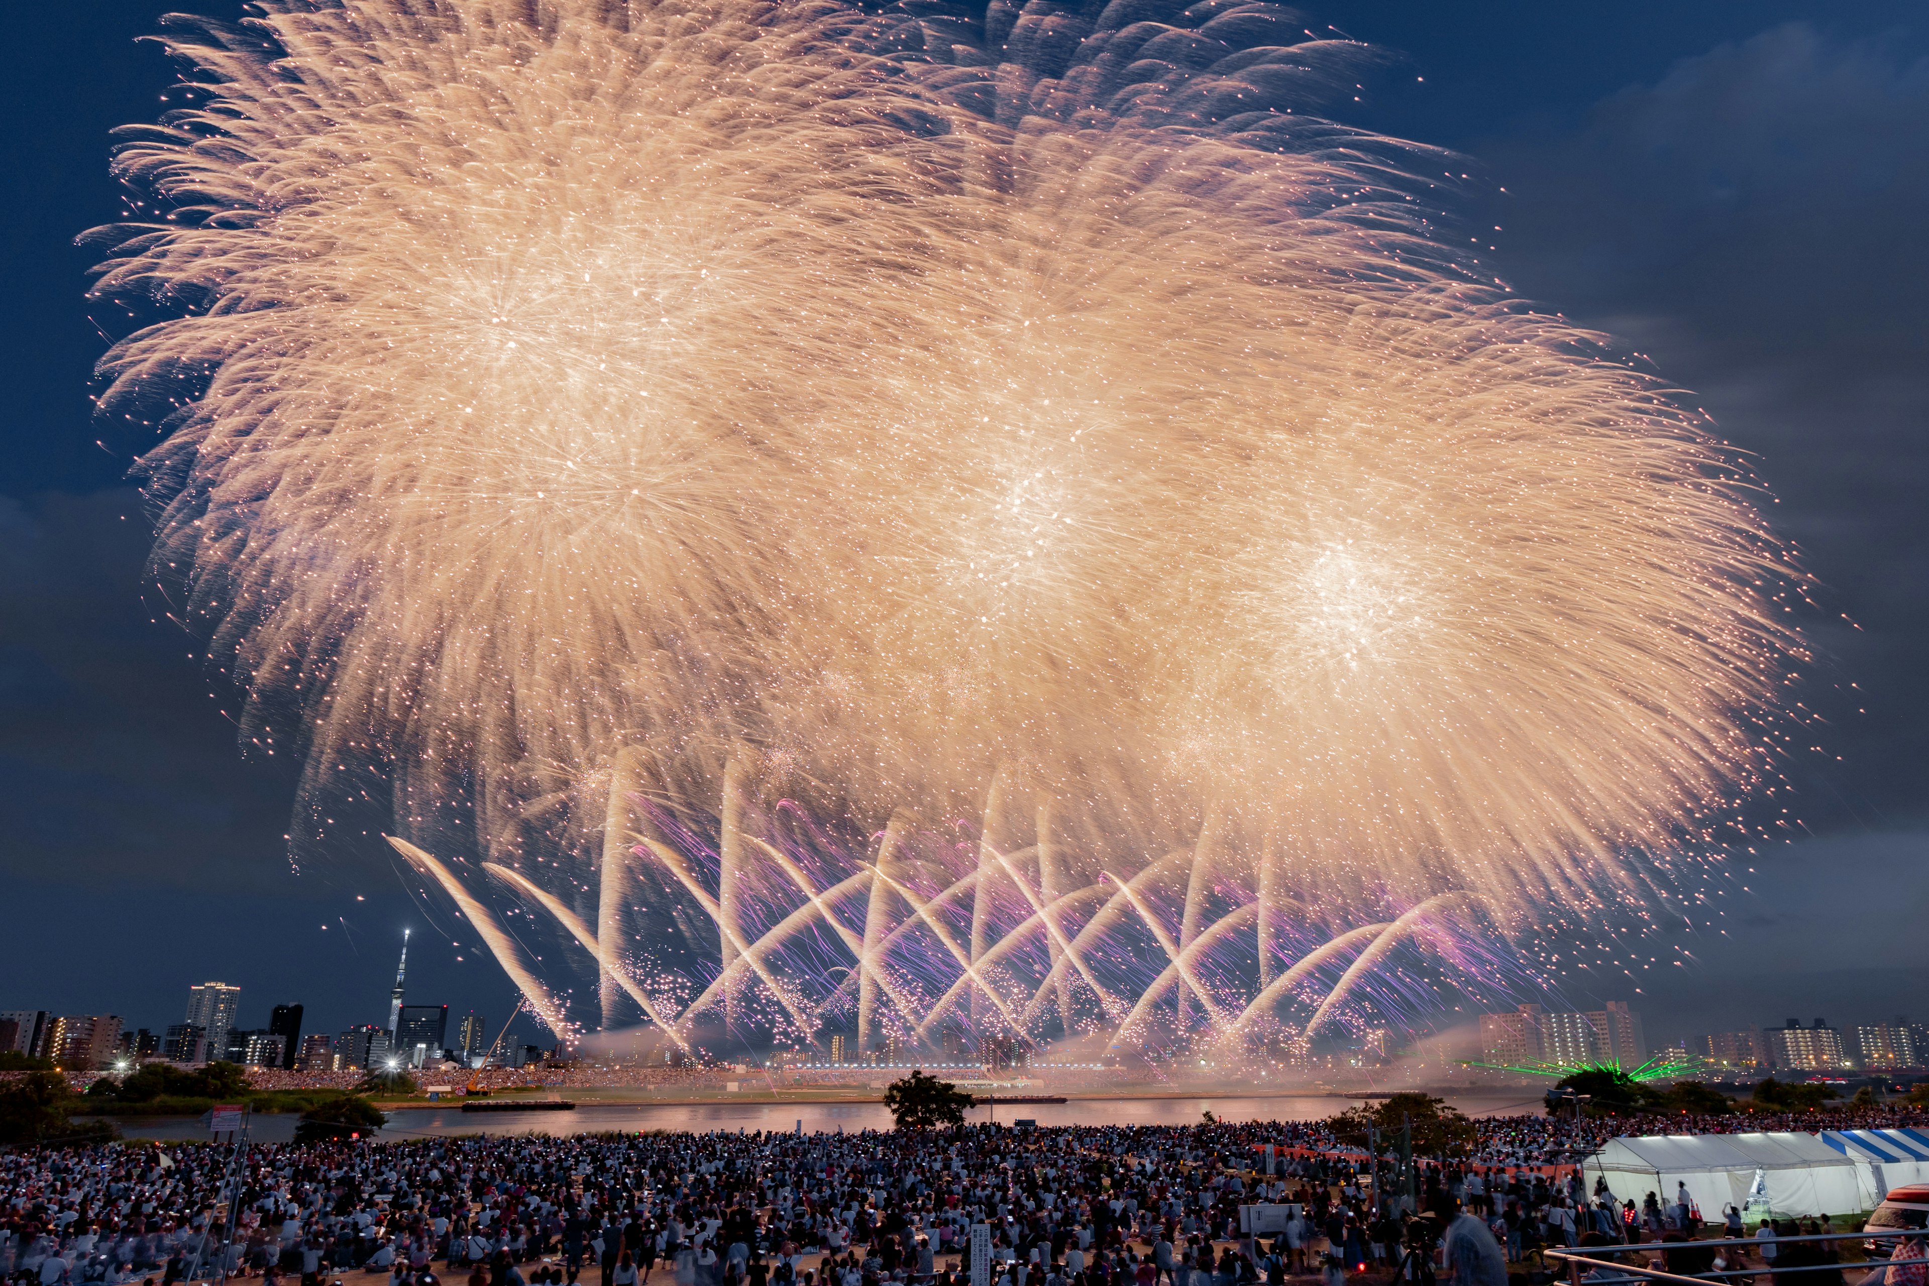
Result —
<instances>
[{"instance_id":1,"label":"river water reflecting warm light between crowd and far bank","mask_svg":"<svg viewBox=\"0 0 1929 1286\"><path fill-rule=\"evenodd\" d=\"M999 1103L978 1107L966 1120L1036 1120L1040 1126L1188 1126L1204 1112L1219 1120L1323 1120L1358 1099L1339 1095L1198 1095L1182 1099L1071 1099L1069 1103ZM1528 1091L1501 1095L1447 1095L1468 1116L1537 1112ZM249 1132L262 1141L285 1141L297 1116L255 1116ZM129 1139L204 1139L193 1116L120 1116ZM449 1134L600 1134L604 1130L887 1130L883 1103L592 1103L571 1112L465 1112L461 1107L409 1107L388 1114L384 1139Z\"/></svg>"}]
</instances>

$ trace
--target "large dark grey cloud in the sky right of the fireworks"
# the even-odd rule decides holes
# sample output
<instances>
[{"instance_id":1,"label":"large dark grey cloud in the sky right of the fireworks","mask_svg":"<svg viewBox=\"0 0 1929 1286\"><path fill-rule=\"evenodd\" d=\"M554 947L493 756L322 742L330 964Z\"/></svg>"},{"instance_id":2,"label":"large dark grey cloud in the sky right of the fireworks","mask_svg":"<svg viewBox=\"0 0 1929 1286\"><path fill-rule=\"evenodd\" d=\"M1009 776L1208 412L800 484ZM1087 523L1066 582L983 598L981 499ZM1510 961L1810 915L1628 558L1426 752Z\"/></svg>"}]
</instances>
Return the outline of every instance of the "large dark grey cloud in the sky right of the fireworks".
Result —
<instances>
[{"instance_id":1,"label":"large dark grey cloud in the sky right of the fireworks","mask_svg":"<svg viewBox=\"0 0 1929 1286\"><path fill-rule=\"evenodd\" d=\"M1792 767L1804 819L1921 816L1929 58L1777 27L1605 98L1572 133L1478 150L1508 189L1489 222L1512 281L1696 389L1825 584L1813 636L1833 663L1806 694L1825 754Z\"/></svg>"}]
</instances>

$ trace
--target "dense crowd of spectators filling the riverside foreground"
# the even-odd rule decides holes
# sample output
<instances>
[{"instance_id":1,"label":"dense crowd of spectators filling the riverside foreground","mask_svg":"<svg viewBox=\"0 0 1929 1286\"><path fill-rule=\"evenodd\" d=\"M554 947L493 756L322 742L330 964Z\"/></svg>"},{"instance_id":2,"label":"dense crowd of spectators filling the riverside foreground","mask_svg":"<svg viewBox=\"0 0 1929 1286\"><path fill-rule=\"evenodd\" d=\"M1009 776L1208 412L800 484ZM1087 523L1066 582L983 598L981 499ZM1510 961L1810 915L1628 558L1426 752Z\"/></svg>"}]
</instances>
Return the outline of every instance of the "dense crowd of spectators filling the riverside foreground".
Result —
<instances>
[{"instance_id":1,"label":"dense crowd of spectators filling the riverside foreground","mask_svg":"<svg viewBox=\"0 0 1929 1286\"><path fill-rule=\"evenodd\" d=\"M1508 1145L1541 1155L1613 1128L1510 1120ZM997 1286L1279 1286L1393 1267L1468 1220L1507 1261L1699 1222L1665 1193L1586 1192L1572 1168L1424 1161L1418 1201L1397 1199L1383 1165L1375 1188L1362 1157L1294 1151L1321 1139L1312 1122L1213 1122L15 1149L0 1153L0 1278L955 1286L986 1224ZM1238 1209L1258 1201L1296 1213L1244 1236Z\"/></svg>"}]
</instances>

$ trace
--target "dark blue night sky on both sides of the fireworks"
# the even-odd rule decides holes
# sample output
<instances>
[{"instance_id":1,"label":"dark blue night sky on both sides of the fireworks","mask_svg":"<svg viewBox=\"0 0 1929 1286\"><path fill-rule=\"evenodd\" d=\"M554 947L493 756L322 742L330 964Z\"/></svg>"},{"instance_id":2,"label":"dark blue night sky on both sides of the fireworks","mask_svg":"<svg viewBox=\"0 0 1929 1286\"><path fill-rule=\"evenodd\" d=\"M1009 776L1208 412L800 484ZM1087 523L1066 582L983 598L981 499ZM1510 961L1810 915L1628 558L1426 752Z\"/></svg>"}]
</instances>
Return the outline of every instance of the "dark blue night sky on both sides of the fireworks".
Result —
<instances>
[{"instance_id":1,"label":"dark blue night sky on both sides of the fireworks","mask_svg":"<svg viewBox=\"0 0 1929 1286\"><path fill-rule=\"evenodd\" d=\"M340 1030L386 1018L413 924L411 1001L494 1024L513 989L428 929L384 844L291 870L293 765L241 758L233 694L143 584L125 470L147 443L91 420L106 337L73 237L120 214L108 131L150 120L172 79L135 42L164 8L10 10L0 1008L160 1028L191 981L222 979L243 989L243 1026L301 1001L311 1031ZM1796 841L1726 898L1728 937L1688 943L1699 970L1566 995L1636 1001L1651 1041L1794 1014L1929 1018L1921 6L1339 4L1308 21L1404 56L1352 123L1464 152L1481 177L1468 222L1503 229L1497 272L1694 389L1757 457L1823 586L1825 661L1800 694L1821 750L1788 765L1792 802L1761 804L1802 819Z\"/></svg>"}]
</instances>

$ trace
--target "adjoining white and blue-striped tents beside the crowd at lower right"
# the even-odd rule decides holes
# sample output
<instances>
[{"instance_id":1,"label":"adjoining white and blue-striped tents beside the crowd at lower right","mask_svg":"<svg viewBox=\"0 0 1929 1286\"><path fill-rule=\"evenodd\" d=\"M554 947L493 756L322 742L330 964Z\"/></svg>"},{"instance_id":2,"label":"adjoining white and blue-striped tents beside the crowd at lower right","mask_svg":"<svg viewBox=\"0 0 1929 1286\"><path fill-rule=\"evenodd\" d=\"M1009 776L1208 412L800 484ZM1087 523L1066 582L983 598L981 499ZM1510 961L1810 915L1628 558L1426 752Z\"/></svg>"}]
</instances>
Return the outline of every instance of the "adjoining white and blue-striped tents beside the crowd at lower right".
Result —
<instances>
[{"instance_id":1,"label":"adjoining white and blue-striped tents beside the crowd at lower right","mask_svg":"<svg viewBox=\"0 0 1929 1286\"><path fill-rule=\"evenodd\" d=\"M1890 1188L1929 1182L1929 1136L1915 1130L1823 1134L1665 1134L1613 1139L1582 1163L1589 1192L1605 1178L1617 1201L1669 1205L1686 1184L1701 1217L1748 1207L1790 1219L1873 1211Z\"/></svg>"}]
</instances>

